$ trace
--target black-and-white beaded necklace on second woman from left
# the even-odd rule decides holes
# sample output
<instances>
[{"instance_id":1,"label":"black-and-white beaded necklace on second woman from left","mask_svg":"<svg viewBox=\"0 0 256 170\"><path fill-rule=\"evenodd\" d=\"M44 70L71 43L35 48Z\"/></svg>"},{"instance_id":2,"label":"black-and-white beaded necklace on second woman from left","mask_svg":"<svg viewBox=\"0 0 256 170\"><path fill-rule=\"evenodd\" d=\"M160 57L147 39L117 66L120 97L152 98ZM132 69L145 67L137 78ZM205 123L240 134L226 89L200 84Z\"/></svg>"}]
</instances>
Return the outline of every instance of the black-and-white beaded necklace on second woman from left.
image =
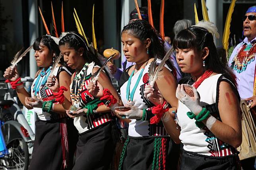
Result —
<instances>
[{"instance_id":1,"label":"black-and-white beaded necklace on second woman from left","mask_svg":"<svg viewBox=\"0 0 256 170\"><path fill-rule=\"evenodd\" d=\"M79 73L76 73L74 80L72 82L72 88L70 90L70 94L71 94L71 99L75 103L78 103L80 92L85 84L88 65L89 65L88 63L85 63L85 65L83 66L83 69Z\"/></svg>"}]
</instances>

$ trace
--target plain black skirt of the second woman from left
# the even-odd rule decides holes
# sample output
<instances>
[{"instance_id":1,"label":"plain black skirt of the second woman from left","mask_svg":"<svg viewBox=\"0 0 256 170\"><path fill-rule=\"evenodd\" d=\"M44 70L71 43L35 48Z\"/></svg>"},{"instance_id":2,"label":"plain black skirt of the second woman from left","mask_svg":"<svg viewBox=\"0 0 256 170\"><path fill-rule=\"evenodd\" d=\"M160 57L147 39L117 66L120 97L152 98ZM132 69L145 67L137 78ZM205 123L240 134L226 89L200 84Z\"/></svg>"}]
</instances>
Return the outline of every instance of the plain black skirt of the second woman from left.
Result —
<instances>
[{"instance_id":1,"label":"plain black skirt of the second woman from left","mask_svg":"<svg viewBox=\"0 0 256 170\"><path fill-rule=\"evenodd\" d=\"M79 135L73 170L108 170L116 146L116 126L106 122Z\"/></svg>"}]
</instances>

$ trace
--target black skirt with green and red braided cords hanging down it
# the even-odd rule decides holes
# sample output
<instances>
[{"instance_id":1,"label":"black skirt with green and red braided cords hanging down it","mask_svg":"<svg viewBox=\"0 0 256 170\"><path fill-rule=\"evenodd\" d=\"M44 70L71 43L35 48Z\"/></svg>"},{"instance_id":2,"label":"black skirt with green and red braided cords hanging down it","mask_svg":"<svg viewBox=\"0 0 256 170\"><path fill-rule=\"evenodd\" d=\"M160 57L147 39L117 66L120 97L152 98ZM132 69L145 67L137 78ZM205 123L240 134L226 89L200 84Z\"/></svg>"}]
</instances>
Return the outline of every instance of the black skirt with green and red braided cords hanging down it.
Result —
<instances>
[{"instance_id":1,"label":"black skirt with green and red braided cords hanging down it","mask_svg":"<svg viewBox=\"0 0 256 170\"><path fill-rule=\"evenodd\" d=\"M175 144L169 136L165 137L131 137L129 136L126 151L123 149L124 159L120 162L119 170L176 170L179 156L179 145ZM155 139L165 138L165 168L163 160L154 160ZM161 144L160 144L161 145ZM159 152L161 154L161 152ZM159 154L157 153L157 156ZM158 156L159 157L159 156ZM121 157L122 159L122 157ZM155 163L153 163L155 162Z\"/></svg>"}]
</instances>

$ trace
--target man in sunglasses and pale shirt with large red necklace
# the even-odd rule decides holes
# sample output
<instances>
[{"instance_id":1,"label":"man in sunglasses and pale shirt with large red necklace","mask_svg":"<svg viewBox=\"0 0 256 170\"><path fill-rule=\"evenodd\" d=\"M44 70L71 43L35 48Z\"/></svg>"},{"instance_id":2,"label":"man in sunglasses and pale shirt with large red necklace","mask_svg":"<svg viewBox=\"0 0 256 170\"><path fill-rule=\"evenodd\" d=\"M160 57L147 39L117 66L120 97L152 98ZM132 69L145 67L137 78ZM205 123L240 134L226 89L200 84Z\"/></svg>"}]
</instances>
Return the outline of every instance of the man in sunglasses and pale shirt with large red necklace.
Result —
<instances>
[{"instance_id":1,"label":"man in sunglasses and pale shirt with large red necklace","mask_svg":"<svg viewBox=\"0 0 256 170\"><path fill-rule=\"evenodd\" d=\"M252 109L256 109L255 88L255 56L256 56L256 6L248 8L243 17L244 40L236 46L229 58L229 65L237 76L238 91L242 99L248 101L252 117ZM254 170L255 157L241 161L244 170Z\"/></svg>"}]
</instances>

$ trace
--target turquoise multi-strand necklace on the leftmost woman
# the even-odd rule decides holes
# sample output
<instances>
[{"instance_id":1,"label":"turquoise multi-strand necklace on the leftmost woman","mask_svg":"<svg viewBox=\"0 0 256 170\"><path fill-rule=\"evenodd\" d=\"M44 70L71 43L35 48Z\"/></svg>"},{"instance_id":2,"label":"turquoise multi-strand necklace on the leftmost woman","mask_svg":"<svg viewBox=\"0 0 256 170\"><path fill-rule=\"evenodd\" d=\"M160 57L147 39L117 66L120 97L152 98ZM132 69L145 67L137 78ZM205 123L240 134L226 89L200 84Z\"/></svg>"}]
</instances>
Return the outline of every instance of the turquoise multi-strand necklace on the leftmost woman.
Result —
<instances>
[{"instance_id":1,"label":"turquoise multi-strand necklace on the leftmost woman","mask_svg":"<svg viewBox=\"0 0 256 170\"><path fill-rule=\"evenodd\" d=\"M45 85L47 78L50 75L51 69L52 69L52 66L50 66L47 69L47 71L45 71L45 68L43 68L40 74L37 76L35 84L32 86L32 93L34 96L39 97L39 91Z\"/></svg>"}]
</instances>

